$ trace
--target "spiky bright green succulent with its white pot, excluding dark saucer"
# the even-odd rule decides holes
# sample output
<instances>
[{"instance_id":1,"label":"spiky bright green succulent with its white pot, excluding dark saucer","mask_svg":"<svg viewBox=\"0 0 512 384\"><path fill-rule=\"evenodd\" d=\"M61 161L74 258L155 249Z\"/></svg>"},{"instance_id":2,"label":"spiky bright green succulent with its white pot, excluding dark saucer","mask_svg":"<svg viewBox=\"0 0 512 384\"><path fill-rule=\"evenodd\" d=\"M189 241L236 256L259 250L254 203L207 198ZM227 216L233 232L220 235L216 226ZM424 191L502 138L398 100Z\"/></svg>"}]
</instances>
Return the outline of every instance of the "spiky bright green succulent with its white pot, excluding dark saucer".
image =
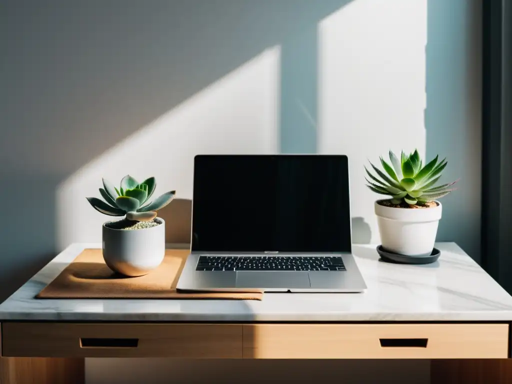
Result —
<instances>
[{"instance_id":1,"label":"spiky bright green succulent with its white pot, excluding dark saucer","mask_svg":"<svg viewBox=\"0 0 512 384\"><path fill-rule=\"evenodd\" d=\"M442 205L437 200L449 194L457 181L437 185L447 161L438 162L438 156L423 166L418 150L400 159L389 152L391 164L382 157L384 172L371 162L374 176L365 167L370 180L367 186L389 199L375 202L375 214L382 248L406 256L431 254L436 240L437 226L441 219Z\"/></svg>"}]
</instances>

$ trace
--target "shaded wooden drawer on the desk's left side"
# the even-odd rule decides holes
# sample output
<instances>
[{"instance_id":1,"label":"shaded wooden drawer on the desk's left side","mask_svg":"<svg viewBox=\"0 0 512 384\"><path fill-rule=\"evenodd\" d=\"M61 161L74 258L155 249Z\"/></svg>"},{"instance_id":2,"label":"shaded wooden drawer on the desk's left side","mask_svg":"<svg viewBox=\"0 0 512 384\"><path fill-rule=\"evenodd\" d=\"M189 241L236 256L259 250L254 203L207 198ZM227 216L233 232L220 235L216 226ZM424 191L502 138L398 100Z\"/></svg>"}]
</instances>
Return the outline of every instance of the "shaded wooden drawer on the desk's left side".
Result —
<instances>
[{"instance_id":1,"label":"shaded wooden drawer on the desk's left side","mask_svg":"<svg viewBox=\"0 0 512 384\"><path fill-rule=\"evenodd\" d=\"M2 344L13 357L241 358L242 326L3 323Z\"/></svg>"}]
</instances>

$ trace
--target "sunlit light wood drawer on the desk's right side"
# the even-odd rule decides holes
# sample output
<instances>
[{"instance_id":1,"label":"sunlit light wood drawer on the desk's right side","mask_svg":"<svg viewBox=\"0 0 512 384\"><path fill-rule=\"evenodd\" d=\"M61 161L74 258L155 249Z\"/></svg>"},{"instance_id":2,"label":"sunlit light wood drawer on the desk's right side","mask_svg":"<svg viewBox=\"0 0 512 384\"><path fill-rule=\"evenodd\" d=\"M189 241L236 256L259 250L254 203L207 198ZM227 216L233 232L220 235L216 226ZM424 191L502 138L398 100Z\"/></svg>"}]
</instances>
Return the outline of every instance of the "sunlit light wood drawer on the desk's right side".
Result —
<instances>
[{"instance_id":1,"label":"sunlit light wood drawer on the desk's right side","mask_svg":"<svg viewBox=\"0 0 512 384\"><path fill-rule=\"evenodd\" d=\"M508 324L244 325L244 358L507 358Z\"/></svg>"}]
</instances>

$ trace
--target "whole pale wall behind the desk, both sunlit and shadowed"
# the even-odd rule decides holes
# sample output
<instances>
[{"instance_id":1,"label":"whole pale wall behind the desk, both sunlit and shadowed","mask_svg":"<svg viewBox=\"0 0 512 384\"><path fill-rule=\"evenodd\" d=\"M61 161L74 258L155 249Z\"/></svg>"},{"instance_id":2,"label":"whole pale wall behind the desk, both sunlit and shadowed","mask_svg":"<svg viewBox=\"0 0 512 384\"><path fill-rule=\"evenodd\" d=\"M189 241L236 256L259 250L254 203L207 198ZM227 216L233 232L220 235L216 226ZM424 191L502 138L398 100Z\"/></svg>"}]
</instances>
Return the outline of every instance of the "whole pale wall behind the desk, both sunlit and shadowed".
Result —
<instances>
[{"instance_id":1,"label":"whole pale wall behind the desk, both sunlit and shadowed","mask_svg":"<svg viewBox=\"0 0 512 384\"><path fill-rule=\"evenodd\" d=\"M85 197L98 195L101 177L154 175L158 191L190 198L196 153L346 153L354 239L377 243L367 158L389 148L439 151L449 157L446 179L462 178L443 198L440 237L478 260L480 8L480 0L2 2L0 182L8 188L0 200L9 219L0 221L0 293L70 242L100 241L105 218ZM192 382L201 374L186 374L211 369L137 361L88 360L88 381L115 382L115 372L134 382L150 366L161 382ZM288 362L216 364L291 375ZM366 364L381 382L407 382ZM299 366L290 378L302 376ZM429 381L426 362L399 368ZM353 362L329 369L354 382L361 374Z\"/></svg>"}]
</instances>

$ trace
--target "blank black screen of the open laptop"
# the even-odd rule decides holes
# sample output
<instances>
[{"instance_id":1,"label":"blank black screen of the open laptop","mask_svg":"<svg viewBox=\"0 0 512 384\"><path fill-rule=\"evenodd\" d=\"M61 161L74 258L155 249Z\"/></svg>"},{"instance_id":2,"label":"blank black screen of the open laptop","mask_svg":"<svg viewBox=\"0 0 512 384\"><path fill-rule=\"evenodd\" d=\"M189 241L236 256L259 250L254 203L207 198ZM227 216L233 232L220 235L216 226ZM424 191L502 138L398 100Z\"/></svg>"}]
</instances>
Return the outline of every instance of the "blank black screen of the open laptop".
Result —
<instances>
[{"instance_id":1,"label":"blank black screen of the open laptop","mask_svg":"<svg viewBox=\"0 0 512 384\"><path fill-rule=\"evenodd\" d=\"M192 244L205 252L350 252L344 155L198 155Z\"/></svg>"}]
</instances>

